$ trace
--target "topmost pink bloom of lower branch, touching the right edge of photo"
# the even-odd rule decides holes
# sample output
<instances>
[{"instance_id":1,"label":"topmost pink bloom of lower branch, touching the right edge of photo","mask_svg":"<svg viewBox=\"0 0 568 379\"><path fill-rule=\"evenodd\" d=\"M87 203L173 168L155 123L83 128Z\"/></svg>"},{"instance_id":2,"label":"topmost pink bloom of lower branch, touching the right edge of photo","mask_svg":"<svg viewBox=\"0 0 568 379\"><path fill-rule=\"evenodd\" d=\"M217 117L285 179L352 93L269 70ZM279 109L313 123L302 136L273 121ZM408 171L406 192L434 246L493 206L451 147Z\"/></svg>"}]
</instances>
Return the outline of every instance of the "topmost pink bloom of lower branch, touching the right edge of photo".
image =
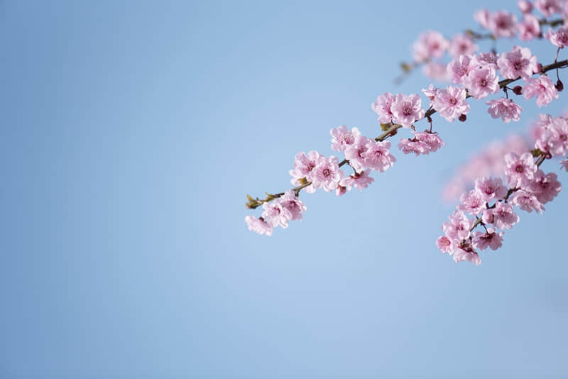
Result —
<instances>
[{"instance_id":1,"label":"topmost pink bloom of lower branch, touching the right edge of photo","mask_svg":"<svg viewBox=\"0 0 568 379\"><path fill-rule=\"evenodd\" d=\"M536 148L552 155L565 155L568 151L568 119L540 115L535 137Z\"/></svg>"}]
</instances>

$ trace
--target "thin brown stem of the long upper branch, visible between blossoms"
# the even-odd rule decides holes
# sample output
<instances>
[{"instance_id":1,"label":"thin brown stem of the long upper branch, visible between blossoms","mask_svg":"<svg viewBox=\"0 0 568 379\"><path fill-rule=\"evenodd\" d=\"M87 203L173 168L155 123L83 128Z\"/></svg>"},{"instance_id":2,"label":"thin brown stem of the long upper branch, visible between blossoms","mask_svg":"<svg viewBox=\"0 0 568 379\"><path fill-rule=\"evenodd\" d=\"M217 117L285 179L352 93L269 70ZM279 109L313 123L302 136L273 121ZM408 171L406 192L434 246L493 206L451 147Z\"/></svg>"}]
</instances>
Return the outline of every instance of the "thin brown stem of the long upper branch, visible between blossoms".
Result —
<instances>
[{"instance_id":1,"label":"thin brown stem of the long upper branch, visible between blossoms","mask_svg":"<svg viewBox=\"0 0 568 379\"><path fill-rule=\"evenodd\" d=\"M568 60L562 60L559 62L552 62L550 65L545 65L542 66L540 72L535 72L533 73L533 75L536 74L545 74L546 72L550 71L550 70L557 70L557 69L563 69L568 67ZM521 79L520 77L518 77L517 79L503 79L500 82L498 82L498 85L501 89L505 89L508 84L511 84L513 82L518 81L519 79ZM470 97L472 97L471 94L469 94L469 92L466 94L466 99L469 99ZM430 117L437 113L437 110L434 108L430 108L425 112L425 116L422 117L421 119L416 120L417 121L421 121L423 119L430 119ZM383 127L384 132L381 133L379 136L377 136L376 138L374 138L375 141L385 141L386 138L389 138L391 136L395 136L396 131L399 128L402 128L403 125L401 125L400 123L386 123L386 124L381 124L381 127ZM349 160L344 159L339 163L339 167L342 167L346 164L349 164ZM307 181L305 179L303 179L303 182L300 183L300 185L298 185L297 187L293 187L291 190L293 192L295 192L296 196L298 196L300 194L300 191L302 189L304 189L305 187L308 187L312 184L312 182ZM265 204L267 202L271 202L274 199L278 199L278 197L282 197L285 194L285 192L279 192L276 194L270 194L270 193L266 193L266 198L264 199L259 199L258 197L253 198L250 195L247 195L247 199L249 200L248 202L245 203L246 208L248 209L256 209L258 207L260 207L262 204Z\"/></svg>"}]
</instances>

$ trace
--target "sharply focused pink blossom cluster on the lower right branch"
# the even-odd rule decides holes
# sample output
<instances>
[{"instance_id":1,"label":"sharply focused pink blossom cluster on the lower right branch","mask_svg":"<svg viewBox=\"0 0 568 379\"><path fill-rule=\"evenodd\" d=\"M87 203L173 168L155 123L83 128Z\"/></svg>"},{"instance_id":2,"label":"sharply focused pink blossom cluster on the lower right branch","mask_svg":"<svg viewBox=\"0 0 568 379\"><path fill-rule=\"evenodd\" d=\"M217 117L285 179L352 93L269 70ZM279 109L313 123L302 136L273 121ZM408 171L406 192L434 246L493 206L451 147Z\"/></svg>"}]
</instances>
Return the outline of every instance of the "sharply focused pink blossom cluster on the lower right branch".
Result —
<instances>
[{"instance_id":1,"label":"sharply focused pink blossom cluster on the lower right branch","mask_svg":"<svg viewBox=\"0 0 568 379\"><path fill-rule=\"evenodd\" d=\"M568 119L540 115L535 133L537 140L532 153L505 155L504 182L501 177L478 177L474 189L461 195L461 204L449 216L449 221L442 224L444 236L436 241L442 253L449 253L456 262L469 260L479 265L478 250L500 248L504 229L518 223L515 207L542 213L544 205L557 196L562 189L557 175L545 174L539 166L546 158L567 154ZM566 164L562 165L565 168ZM474 231L477 226L484 230Z\"/></svg>"}]
</instances>

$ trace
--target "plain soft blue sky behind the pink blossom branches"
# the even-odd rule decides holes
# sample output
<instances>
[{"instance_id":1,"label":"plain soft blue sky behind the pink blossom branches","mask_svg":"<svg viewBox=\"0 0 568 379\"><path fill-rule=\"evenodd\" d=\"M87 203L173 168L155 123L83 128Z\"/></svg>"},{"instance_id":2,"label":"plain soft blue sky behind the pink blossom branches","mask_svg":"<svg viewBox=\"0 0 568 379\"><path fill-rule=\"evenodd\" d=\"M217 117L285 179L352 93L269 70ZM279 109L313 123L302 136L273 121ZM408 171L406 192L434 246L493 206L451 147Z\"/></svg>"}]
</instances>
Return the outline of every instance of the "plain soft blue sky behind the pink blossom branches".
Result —
<instances>
[{"instance_id":1,"label":"plain soft blue sky behind the pink blossom branches","mask_svg":"<svg viewBox=\"0 0 568 379\"><path fill-rule=\"evenodd\" d=\"M0 377L567 378L566 193L479 267L434 243L444 181L534 101L472 101L438 153L244 224L329 128L377 135L376 96L429 83L393 84L417 35L483 6L515 1L2 2Z\"/></svg>"}]
</instances>

